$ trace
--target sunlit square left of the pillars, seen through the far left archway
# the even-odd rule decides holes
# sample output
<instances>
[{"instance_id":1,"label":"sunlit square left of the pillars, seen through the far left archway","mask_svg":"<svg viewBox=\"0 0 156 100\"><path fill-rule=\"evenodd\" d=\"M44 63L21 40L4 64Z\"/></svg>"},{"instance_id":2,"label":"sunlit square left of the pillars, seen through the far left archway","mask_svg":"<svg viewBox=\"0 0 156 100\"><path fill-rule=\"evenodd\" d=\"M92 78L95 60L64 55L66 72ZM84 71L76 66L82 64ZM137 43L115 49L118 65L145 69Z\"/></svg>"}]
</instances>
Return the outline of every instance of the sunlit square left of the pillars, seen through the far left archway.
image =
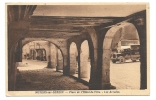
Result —
<instances>
[{"instance_id":1,"label":"sunlit square left of the pillars, seen through the far left archway","mask_svg":"<svg viewBox=\"0 0 156 100\"><path fill-rule=\"evenodd\" d=\"M22 62L19 70L42 69L47 66L49 56L48 41L31 41L23 45Z\"/></svg>"}]
</instances>

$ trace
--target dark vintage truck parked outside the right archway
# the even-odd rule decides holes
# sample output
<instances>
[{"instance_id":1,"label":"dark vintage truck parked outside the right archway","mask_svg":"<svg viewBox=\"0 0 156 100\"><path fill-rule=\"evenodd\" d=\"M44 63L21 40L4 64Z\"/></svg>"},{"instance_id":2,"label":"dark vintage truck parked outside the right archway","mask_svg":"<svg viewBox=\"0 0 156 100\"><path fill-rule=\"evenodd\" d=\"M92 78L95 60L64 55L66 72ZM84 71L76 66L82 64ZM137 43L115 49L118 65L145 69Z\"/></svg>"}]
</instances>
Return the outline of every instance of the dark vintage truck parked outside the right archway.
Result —
<instances>
[{"instance_id":1,"label":"dark vintage truck parked outside the right archway","mask_svg":"<svg viewBox=\"0 0 156 100\"><path fill-rule=\"evenodd\" d=\"M133 62L140 61L139 54L140 45L130 45L130 48L121 49L120 52L114 52L111 56L113 63L124 63L126 60L131 59Z\"/></svg>"}]
</instances>

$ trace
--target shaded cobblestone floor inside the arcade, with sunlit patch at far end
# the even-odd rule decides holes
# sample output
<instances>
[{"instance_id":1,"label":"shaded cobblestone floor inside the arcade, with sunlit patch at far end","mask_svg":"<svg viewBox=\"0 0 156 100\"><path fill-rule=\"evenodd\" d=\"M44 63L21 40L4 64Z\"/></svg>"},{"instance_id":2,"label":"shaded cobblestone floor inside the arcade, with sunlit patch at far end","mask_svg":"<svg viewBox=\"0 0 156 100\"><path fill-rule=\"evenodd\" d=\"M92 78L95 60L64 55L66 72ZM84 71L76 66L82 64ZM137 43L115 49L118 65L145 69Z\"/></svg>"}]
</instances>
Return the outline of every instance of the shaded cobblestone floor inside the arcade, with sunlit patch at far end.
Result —
<instances>
[{"instance_id":1,"label":"shaded cobblestone floor inside the arcade, with sunlit patch at far end","mask_svg":"<svg viewBox=\"0 0 156 100\"><path fill-rule=\"evenodd\" d=\"M45 68L46 62L23 61L27 67L18 67L21 75L25 79L30 79L30 84L23 84L17 87L17 91L34 90L88 90L88 86L76 81L63 73L56 72L54 69ZM42 63L42 64L41 64ZM37 64L37 65L36 65ZM37 69L35 68L40 65Z\"/></svg>"}]
</instances>

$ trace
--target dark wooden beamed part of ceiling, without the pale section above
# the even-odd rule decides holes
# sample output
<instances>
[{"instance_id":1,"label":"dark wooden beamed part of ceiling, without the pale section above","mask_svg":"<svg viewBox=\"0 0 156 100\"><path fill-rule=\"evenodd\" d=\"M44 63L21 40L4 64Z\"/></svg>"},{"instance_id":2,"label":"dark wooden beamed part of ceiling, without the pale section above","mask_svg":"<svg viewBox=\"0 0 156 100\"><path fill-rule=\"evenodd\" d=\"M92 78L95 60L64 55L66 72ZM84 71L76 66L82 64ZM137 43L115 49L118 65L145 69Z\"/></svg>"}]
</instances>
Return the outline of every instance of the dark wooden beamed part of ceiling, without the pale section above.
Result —
<instances>
[{"instance_id":1,"label":"dark wooden beamed part of ceiling, without the pale section above","mask_svg":"<svg viewBox=\"0 0 156 100\"><path fill-rule=\"evenodd\" d=\"M100 26L116 22L121 18L114 17L61 17L61 16L32 16L29 37L64 38L83 34L84 28Z\"/></svg>"}]
</instances>

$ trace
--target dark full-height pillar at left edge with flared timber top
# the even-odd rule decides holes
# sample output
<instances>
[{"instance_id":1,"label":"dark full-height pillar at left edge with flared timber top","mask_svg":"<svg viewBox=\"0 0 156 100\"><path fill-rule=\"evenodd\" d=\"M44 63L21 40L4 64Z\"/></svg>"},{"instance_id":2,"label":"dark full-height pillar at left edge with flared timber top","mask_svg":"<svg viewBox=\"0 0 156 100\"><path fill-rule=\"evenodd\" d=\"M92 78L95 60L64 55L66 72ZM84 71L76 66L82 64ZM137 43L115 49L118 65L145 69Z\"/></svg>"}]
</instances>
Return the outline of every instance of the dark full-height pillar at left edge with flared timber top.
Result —
<instances>
[{"instance_id":1,"label":"dark full-height pillar at left edge with flared timber top","mask_svg":"<svg viewBox=\"0 0 156 100\"><path fill-rule=\"evenodd\" d=\"M24 8L24 9L23 9ZM26 9L28 10L27 16L24 16ZM8 15L8 90L15 90L16 83L16 61L21 61L22 58L19 56L19 59L14 57L14 47L15 44L18 43L22 38L24 38L25 34L28 33L29 30L29 15L33 13L36 6L8 6L7 13ZM21 43L19 43L21 44ZM20 50L21 50L20 46Z\"/></svg>"}]
</instances>

